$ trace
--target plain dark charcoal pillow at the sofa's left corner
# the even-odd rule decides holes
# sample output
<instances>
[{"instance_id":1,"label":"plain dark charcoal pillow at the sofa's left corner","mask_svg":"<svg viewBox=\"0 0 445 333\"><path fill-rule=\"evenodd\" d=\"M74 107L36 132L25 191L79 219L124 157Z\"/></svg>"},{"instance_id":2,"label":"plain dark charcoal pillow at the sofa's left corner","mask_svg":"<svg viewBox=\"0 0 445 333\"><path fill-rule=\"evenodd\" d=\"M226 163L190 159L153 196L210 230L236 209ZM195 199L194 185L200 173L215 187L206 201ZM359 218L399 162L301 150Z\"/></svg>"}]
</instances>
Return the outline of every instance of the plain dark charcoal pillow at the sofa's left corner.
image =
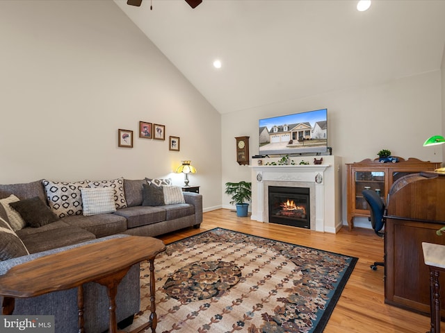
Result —
<instances>
[{"instance_id":1,"label":"plain dark charcoal pillow at the sofa's left corner","mask_svg":"<svg viewBox=\"0 0 445 333\"><path fill-rule=\"evenodd\" d=\"M19 212L26 224L33 228L58 221L57 215L38 196L19 200L9 205Z\"/></svg>"}]
</instances>

